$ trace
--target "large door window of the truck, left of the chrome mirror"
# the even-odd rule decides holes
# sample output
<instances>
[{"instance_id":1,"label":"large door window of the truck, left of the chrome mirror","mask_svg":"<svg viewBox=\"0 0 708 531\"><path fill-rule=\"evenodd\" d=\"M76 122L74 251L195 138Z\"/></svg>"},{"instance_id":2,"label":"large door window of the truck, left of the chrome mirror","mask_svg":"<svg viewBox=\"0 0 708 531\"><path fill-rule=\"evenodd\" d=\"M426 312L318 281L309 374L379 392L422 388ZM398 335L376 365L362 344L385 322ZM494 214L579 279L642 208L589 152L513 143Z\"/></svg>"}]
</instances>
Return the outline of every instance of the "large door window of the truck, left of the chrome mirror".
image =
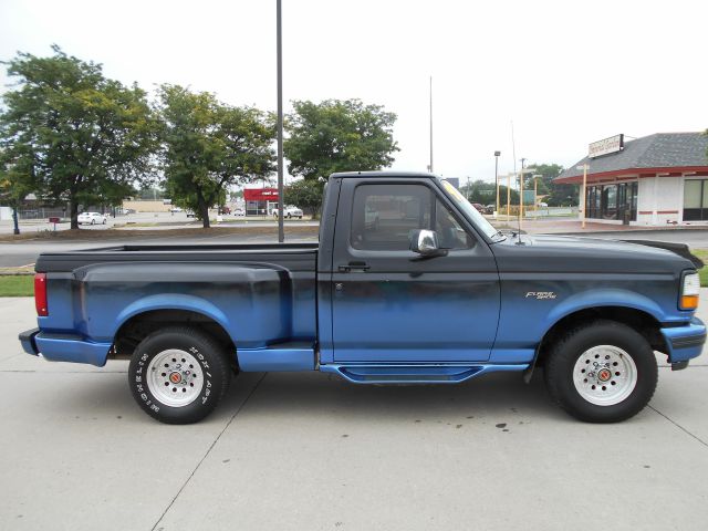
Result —
<instances>
[{"instance_id":1,"label":"large door window of the truck, left of the chrome mirror","mask_svg":"<svg viewBox=\"0 0 708 531\"><path fill-rule=\"evenodd\" d=\"M352 233L354 249L404 251L410 232L429 229L433 192L423 185L362 185L354 190Z\"/></svg>"}]
</instances>

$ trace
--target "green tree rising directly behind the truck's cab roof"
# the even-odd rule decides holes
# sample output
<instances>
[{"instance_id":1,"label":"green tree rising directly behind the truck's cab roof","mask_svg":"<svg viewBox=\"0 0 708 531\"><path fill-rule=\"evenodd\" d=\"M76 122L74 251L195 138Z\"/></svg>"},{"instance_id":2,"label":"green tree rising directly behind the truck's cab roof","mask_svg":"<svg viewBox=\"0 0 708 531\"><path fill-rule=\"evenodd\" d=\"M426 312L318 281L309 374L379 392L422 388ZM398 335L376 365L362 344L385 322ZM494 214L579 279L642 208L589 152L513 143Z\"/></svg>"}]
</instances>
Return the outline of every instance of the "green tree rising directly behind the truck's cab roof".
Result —
<instances>
[{"instance_id":1,"label":"green tree rising directly behind the truck's cab roof","mask_svg":"<svg viewBox=\"0 0 708 531\"><path fill-rule=\"evenodd\" d=\"M292 105L283 143L291 175L317 180L336 171L381 169L391 166L399 150L393 138L396 115L381 105L364 105L360 100Z\"/></svg>"}]
</instances>

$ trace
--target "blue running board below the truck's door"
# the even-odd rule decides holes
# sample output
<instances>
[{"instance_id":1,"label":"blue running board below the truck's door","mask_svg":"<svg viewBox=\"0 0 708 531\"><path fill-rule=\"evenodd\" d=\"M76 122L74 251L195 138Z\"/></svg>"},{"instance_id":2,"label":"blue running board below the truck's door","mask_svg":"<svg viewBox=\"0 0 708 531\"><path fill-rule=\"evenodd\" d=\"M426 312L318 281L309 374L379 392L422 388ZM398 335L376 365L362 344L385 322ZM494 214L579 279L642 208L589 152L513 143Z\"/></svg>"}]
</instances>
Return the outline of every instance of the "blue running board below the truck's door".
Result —
<instances>
[{"instance_id":1,"label":"blue running board below the truck's door","mask_svg":"<svg viewBox=\"0 0 708 531\"><path fill-rule=\"evenodd\" d=\"M517 365L321 365L320 371L332 373L354 384L459 384L486 373L524 371L528 363Z\"/></svg>"}]
</instances>

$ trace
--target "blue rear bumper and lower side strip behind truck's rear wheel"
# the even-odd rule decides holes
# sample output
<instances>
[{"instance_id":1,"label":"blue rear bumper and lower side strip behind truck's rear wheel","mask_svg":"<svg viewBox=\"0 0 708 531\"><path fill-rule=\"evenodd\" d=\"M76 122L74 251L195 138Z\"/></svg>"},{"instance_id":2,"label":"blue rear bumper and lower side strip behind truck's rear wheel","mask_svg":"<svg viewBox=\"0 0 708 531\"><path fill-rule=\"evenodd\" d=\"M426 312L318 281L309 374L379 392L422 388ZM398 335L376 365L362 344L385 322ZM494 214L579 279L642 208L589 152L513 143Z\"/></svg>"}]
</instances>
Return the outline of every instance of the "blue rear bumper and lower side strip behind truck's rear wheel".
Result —
<instances>
[{"instance_id":1,"label":"blue rear bumper and lower side strip behind truck's rear wheel","mask_svg":"<svg viewBox=\"0 0 708 531\"><path fill-rule=\"evenodd\" d=\"M77 335L48 334L32 329L20 334L20 343L28 354L41 355L52 362L88 363L103 367L111 343L85 341Z\"/></svg>"}]
</instances>

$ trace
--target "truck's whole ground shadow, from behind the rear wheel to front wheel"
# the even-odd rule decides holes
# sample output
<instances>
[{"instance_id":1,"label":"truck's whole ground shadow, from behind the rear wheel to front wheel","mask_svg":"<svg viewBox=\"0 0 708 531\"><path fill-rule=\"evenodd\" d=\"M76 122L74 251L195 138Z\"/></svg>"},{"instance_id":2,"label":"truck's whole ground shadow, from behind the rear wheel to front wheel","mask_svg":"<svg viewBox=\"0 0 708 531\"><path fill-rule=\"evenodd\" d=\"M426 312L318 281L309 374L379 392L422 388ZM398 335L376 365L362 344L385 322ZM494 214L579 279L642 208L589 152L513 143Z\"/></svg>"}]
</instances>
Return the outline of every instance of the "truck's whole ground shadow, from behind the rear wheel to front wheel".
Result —
<instances>
[{"instance_id":1,"label":"truck's whole ground shadow, from behind the rear wheel to front wheel","mask_svg":"<svg viewBox=\"0 0 708 531\"><path fill-rule=\"evenodd\" d=\"M42 407L61 417L155 423L135 405L123 374L94 374L62 396L62 400L42 403ZM202 423L228 421L237 412L271 420L341 417L386 423L475 418L504 423L518 416L573 421L550 400L540 372L529 385L517 374L489 374L456 385L385 386L355 385L321 373L242 373L233 378L217 410Z\"/></svg>"}]
</instances>

